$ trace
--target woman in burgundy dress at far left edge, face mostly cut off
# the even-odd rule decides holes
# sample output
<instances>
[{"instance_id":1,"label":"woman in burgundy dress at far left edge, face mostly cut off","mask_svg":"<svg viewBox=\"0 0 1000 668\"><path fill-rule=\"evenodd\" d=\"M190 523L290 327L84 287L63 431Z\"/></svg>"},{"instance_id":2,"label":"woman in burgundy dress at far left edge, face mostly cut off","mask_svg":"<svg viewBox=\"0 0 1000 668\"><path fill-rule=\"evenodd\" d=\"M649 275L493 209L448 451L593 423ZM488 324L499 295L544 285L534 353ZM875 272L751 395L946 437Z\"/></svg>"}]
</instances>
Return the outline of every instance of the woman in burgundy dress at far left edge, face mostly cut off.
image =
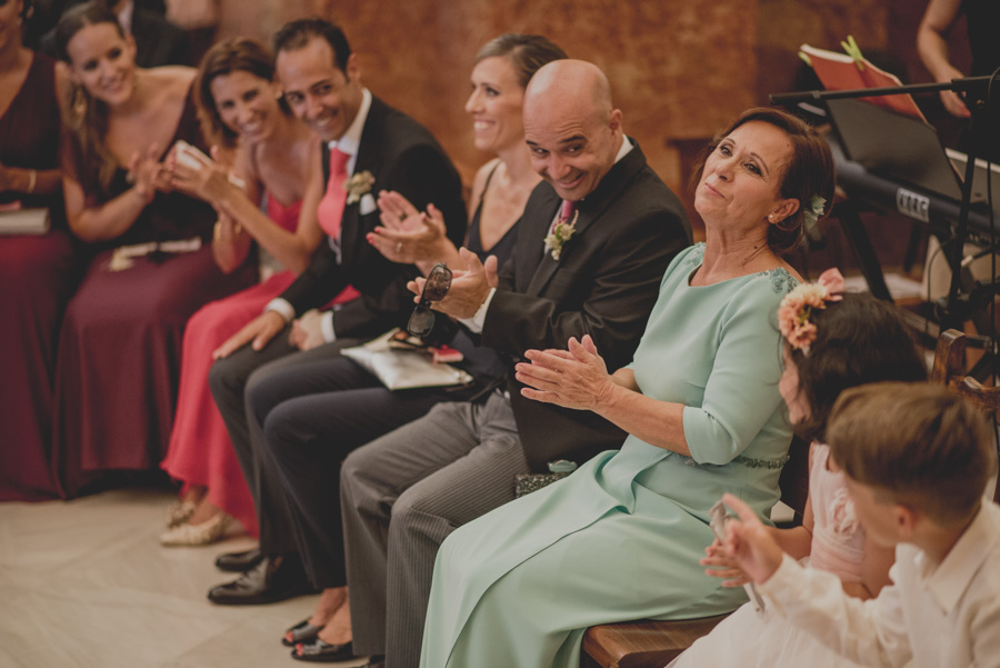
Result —
<instances>
[{"instance_id":1,"label":"woman in burgundy dress at far left edge, face mostly cut off","mask_svg":"<svg viewBox=\"0 0 1000 668\"><path fill-rule=\"evenodd\" d=\"M49 461L52 376L76 267L59 173L67 72L22 46L29 9L26 0L0 4L0 210L48 208L51 229L0 235L0 501L58 493Z\"/></svg>"}]
</instances>

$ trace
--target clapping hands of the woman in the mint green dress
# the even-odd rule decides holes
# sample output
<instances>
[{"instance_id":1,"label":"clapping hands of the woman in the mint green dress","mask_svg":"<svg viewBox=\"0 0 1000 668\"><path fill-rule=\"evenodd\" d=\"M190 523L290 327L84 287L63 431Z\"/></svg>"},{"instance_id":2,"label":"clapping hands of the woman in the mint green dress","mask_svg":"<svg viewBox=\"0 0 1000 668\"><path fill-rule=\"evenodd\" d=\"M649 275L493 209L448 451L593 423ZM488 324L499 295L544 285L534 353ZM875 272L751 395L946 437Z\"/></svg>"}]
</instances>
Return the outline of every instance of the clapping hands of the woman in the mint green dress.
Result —
<instances>
[{"instance_id":1,"label":"clapping hands of the woman in the mint green dress","mask_svg":"<svg viewBox=\"0 0 1000 668\"><path fill-rule=\"evenodd\" d=\"M611 401L618 387L608 373L603 358L590 335L570 338L567 350L528 350L528 362L514 367L524 383L521 395L528 399L556 403L563 408L594 410Z\"/></svg>"}]
</instances>

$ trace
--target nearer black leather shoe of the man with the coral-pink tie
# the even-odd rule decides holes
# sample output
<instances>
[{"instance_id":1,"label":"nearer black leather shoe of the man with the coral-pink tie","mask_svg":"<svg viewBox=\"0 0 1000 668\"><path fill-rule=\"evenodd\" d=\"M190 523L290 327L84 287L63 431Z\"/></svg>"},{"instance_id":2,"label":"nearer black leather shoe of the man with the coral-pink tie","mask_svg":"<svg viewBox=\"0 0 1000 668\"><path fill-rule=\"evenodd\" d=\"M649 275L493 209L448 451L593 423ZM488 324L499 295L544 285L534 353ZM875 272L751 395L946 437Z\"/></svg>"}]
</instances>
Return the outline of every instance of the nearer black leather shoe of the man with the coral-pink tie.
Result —
<instances>
[{"instance_id":1,"label":"nearer black leather shoe of the man with the coral-pink tie","mask_svg":"<svg viewBox=\"0 0 1000 668\"><path fill-rule=\"evenodd\" d=\"M232 582L212 587L208 598L220 606L260 606L310 592L299 558L282 556L266 557Z\"/></svg>"}]
</instances>

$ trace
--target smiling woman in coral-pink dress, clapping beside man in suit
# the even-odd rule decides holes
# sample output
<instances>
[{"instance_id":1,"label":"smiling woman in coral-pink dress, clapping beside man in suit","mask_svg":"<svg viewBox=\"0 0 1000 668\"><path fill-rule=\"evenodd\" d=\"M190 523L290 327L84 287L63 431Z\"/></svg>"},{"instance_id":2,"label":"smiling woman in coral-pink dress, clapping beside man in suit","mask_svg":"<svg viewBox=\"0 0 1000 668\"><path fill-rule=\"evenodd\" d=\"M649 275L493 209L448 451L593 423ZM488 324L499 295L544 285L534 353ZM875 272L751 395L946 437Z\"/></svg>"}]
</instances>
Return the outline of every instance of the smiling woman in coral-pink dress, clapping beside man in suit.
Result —
<instances>
[{"instance_id":1,"label":"smiling woman in coral-pink dress, clapping beside man in suit","mask_svg":"<svg viewBox=\"0 0 1000 668\"><path fill-rule=\"evenodd\" d=\"M218 144L213 157L219 162L196 157L202 167L194 169L174 157L172 166L179 188L219 211L212 243L219 267L229 271L240 266L256 241L262 273L270 276L206 305L188 322L177 416L161 465L183 487L168 512L164 545L211 542L226 534L233 518L248 532L257 532L253 501L212 401L208 371L216 349L294 280L323 235L317 202L302 201L309 179L322 178L309 169L319 163L313 154L320 151L319 140L289 113L272 76L270 53L252 40L213 47L202 61L196 90L203 131ZM273 272L276 263L283 270Z\"/></svg>"}]
</instances>

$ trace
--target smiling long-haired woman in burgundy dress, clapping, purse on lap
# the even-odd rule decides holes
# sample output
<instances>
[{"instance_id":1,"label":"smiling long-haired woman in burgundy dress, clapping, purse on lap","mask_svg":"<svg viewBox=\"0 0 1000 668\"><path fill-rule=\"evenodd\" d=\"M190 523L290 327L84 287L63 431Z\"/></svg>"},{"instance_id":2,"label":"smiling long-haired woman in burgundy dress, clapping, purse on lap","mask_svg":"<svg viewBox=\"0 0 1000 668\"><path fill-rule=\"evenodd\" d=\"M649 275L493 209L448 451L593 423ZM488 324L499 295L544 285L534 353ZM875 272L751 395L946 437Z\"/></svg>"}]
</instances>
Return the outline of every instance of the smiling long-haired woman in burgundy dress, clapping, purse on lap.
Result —
<instances>
[{"instance_id":1,"label":"smiling long-haired woman in burgundy dress, clapping, purse on lap","mask_svg":"<svg viewBox=\"0 0 1000 668\"><path fill-rule=\"evenodd\" d=\"M93 258L67 308L56 372L53 466L67 496L112 470L148 470L167 451L188 318L249 285L208 241L211 207L170 187L163 160L200 144L196 71L139 69L104 4L68 10L56 30L74 90L63 192L70 229Z\"/></svg>"}]
</instances>

